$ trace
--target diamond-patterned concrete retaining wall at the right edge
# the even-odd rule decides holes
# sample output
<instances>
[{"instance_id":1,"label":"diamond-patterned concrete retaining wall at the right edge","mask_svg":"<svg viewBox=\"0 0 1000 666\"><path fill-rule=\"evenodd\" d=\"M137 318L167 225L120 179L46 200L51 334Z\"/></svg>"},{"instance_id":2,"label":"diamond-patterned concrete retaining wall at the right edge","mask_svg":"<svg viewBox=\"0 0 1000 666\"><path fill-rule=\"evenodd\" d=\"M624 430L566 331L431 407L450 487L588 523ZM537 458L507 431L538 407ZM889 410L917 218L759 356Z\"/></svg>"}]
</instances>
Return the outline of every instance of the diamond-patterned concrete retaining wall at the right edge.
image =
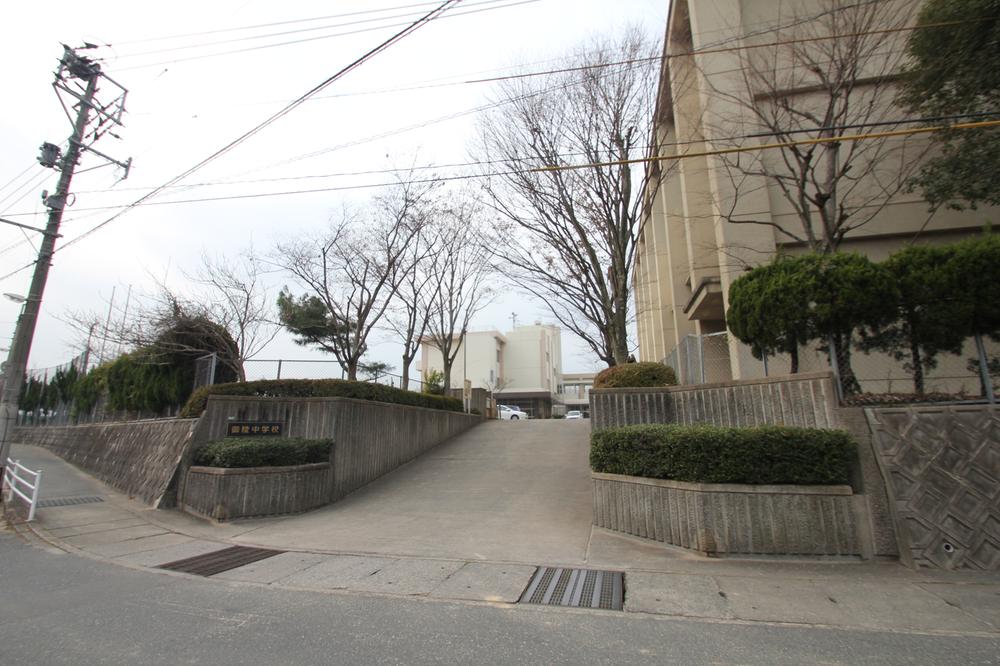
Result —
<instances>
[{"instance_id":1,"label":"diamond-patterned concrete retaining wall at the right edge","mask_svg":"<svg viewBox=\"0 0 1000 666\"><path fill-rule=\"evenodd\" d=\"M1000 570L1000 409L865 411L901 550L919 566Z\"/></svg>"}]
</instances>

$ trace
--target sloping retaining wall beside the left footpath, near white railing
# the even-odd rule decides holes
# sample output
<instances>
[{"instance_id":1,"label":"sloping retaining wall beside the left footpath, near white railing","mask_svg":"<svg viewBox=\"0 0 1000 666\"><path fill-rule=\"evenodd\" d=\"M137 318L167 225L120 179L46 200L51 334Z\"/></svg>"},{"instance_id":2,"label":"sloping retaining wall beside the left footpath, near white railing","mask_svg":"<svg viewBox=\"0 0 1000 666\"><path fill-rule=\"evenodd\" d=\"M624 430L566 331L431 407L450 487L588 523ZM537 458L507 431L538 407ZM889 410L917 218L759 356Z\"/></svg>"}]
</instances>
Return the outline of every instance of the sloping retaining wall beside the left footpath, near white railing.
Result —
<instances>
[{"instance_id":1,"label":"sloping retaining wall beside the left footpath, near white railing","mask_svg":"<svg viewBox=\"0 0 1000 666\"><path fill-rule=\"evenodd\" d=\"M14 441L40 446L109 486L157 506L191 441L197 419L15 428ZM44 478L43 478L44 483Z\"/></svg>"}]
</instances>

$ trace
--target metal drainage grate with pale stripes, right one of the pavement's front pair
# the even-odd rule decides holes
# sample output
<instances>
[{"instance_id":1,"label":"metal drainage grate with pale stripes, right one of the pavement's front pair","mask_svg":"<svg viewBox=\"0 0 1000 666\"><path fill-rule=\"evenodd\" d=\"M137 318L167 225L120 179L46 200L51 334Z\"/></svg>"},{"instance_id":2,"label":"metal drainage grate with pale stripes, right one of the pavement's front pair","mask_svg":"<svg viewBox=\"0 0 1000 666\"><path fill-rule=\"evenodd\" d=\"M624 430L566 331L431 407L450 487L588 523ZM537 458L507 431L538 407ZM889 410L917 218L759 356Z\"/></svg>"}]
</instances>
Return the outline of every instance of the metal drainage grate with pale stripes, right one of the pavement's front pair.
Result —
<instances>
[{"instance_id":1,"label":"metal drainage grate with pale stripes, right one of the pavement's front pair","mask_svg":"<svg viewBox=\"0 0 1000 666\"><path fill-rule=\"evenodd\" d=\"M620 571L538 567L519 603L622 610L623 600Z\"/></svg>"}]
</instances>

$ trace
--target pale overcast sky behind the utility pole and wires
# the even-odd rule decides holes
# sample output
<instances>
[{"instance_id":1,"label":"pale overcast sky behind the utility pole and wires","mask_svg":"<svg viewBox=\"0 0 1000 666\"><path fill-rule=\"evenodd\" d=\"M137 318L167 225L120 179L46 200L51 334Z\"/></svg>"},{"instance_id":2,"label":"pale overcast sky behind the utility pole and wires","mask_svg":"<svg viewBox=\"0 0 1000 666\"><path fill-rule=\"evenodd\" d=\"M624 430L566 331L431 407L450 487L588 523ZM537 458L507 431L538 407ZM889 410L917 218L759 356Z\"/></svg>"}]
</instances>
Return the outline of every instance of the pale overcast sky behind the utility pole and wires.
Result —
<instances>
[{"instance_id":1,"label":"pale overcast sky behind the utility pole and wires","mask_svg":"<svg viewBox=\"0 0 1000 666\"><path fill-rule=\"evenodd\" d=\"M64 216L63 244L115 212L100 207L127 204L185 171L435 4L14 3L0 28L7 53L0 217L45 225L40 192L55 189L57 174L37 165L38 146L62 144L71 131L51 87L61 42L100 45L84 53L101 58L105 73L128 88L125 127L117 132L121 139L108 136L95 147L122 160L132 157L134 164L129 178L118 182L116 169L84 172L101 161L83 160L72 187L75 201ZM320 229L345 202L363 203L373 194L363 186L388 179L377 173L336 174L391 168L415 157L439 165L468 161L479 115L474 110L493 100L494 89L460 82L545 69L588 37L628 24L659 39L667 10L668 0L465 0L452 15L393 45L182 183L190 187L155 201L327 191L141 206L65 252L57 250L30 367L54 366L80 353L78 336L59 319L68 311L104 311L112 291L120 306L130 285L149 291L155 280L184 292L184 272L196 268L203 252L235 255L251 240L266 250ZM264 27L243 29L247 26ZM428 87L440 83L458 84ZM401 90L412 87L418 89ZM0 225L0 275L33 261L38 238L29 238ZM19 272L0 281L0 292L27 294L30 279L30 270ZM287 282L275 277L275 286ZM9 346L19 307L0 299L0 347ZM510 293L482 312L473 327L507 330L512 312L519 324L552 321L544 307ZM380 334L383 343L371 356L398 368L390 338ZM565 331L563 349L566 371L599 367ZM260 356L325 358L284 335Z\"/></svg>"}]
</instances>

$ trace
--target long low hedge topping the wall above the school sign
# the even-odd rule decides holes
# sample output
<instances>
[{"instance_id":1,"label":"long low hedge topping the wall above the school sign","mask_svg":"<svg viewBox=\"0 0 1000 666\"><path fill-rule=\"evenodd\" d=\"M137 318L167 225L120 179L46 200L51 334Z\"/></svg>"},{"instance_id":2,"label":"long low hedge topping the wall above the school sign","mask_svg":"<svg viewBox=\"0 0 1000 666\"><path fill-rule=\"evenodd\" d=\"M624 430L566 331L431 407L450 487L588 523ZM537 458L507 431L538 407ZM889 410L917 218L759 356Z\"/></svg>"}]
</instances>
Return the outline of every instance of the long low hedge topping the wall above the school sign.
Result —
<instances>
[{"instance_id":1,"label":"long low hedge topping the wall above the school sign","mask_svg":"<svg viewBox=\"0 0 1000 666\"><path fill-rule=\"evenodd\" d=\"M462 401L458 398L415 393L370 382L352 382L345 379L262 379L256 382L202 386L191 394L180 412L181 418L198 417L205 411L209 395L256 398L355 398L411 407L444 409L451 412L463 410Z\"/></svg>"}]
</instances>

